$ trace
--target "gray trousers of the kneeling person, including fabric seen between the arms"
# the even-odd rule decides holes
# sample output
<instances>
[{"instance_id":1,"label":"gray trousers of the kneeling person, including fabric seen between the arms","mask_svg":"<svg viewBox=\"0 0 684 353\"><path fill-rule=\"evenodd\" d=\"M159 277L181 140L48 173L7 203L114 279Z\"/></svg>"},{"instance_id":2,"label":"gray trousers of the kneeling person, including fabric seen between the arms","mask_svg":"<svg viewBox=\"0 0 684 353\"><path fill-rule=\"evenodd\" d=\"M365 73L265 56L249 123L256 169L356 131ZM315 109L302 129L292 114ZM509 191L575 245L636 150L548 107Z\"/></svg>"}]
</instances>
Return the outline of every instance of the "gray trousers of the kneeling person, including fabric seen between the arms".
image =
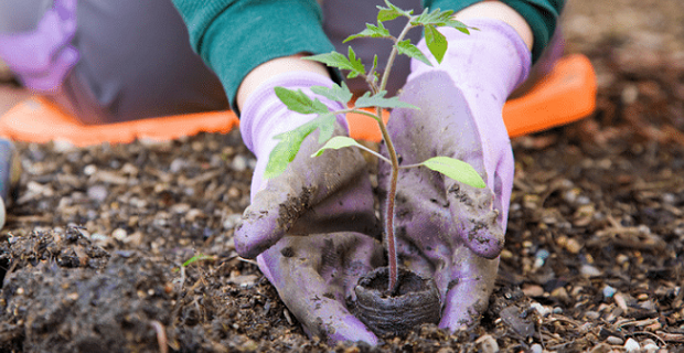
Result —
<instances>
[{"instance_id":1,"label":"gray trousers of the kneeling person, including fabric seen between the arms","mask_svg":"<svg viewBox=\"0 0 684 353\"><path fill-rule=\"evenodd\" d=\"M53 0L1 0L0 33L31 31ZM338 51L350 34L374 23L382 0L323 2L324 30ZM403 8L419 8L420 0L396 0ZM217 77L192 51L188 30L170 0L78 0L77 29L72 45L79 60L56 92L44 93L85 124L135 120L147 117L227 109ZM397 23L393 23L397 22ZM398 21L387 23L398 30ZM420 31L410 33L413 40ZM351 43L365 63L380 53L388 55L389 42L356 40ZM393 69L391 93L408 73L400 56ZM365 88L352 81L353 89Z\"/></svg>"}]
</instances>

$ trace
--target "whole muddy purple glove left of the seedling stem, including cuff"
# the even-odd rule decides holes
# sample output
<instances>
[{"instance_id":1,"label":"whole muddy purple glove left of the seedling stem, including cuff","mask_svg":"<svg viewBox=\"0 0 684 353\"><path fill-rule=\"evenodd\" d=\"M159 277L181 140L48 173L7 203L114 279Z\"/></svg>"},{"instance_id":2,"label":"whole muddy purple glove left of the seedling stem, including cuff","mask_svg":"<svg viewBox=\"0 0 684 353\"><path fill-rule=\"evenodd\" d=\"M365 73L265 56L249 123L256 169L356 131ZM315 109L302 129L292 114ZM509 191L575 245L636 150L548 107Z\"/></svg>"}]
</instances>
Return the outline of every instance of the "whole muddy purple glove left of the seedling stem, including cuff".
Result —
<instances>
[{"instance_id":1,"label":"whole muddy purple glove left of the seedling stem, including cuff","mask_svg":"<svg viewBox=\"0 0 684 353\"><path fill-rule=\"evenodd\" d=\"M277 143L274 136L316 118L288 110L274 87L302 89L332 110L344 108L313 95L309 87L314 85L331 86L332 81L311 73L284 74L257 88L245 104L241 131L257 165L252 204L235 232L235 247L244 257L261 254L259 268L309 334L330 343L373 344L375 335L345 304L359 277L383 261L382 245L371 236L380 237L380 231L365 160L356 149L311 158L321 147L314 131L282 174L263 178ZM340 116L334 135L346 133Z\"/></svg>"}]
</instances>

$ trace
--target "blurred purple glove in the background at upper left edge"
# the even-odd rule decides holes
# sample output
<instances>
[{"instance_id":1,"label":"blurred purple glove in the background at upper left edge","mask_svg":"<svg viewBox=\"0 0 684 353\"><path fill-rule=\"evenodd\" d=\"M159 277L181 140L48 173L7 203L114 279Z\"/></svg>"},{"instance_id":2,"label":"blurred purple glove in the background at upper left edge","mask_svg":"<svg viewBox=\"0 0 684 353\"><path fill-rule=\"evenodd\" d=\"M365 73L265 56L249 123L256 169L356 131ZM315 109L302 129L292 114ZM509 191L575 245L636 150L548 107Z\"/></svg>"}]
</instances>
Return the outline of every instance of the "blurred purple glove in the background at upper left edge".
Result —
<instances>
[{"instance_id":1,"label":"blurred purple glove in the background at upper left edge","mask_svg":"<svg viewBox=\"0 0 684 353\"><path fill-rule=\"evenodd\" d=\"M76 0L55 0L34 31L0 34L0 57L28 88L55 92L78 62L75 32Z\"/></svg>"}]
</instances>

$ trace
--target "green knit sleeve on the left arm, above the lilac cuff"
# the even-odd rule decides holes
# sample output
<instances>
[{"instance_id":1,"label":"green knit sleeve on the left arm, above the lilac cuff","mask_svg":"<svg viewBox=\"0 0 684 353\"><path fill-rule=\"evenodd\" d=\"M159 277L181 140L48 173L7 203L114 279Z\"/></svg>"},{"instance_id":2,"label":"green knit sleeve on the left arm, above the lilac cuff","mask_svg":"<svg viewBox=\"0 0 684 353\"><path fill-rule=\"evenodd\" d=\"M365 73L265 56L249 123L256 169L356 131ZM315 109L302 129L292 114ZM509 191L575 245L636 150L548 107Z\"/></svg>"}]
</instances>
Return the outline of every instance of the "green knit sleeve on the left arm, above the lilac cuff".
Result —
<instances>
[{"instance_id":1,"label":"green knit sleeve on the left arm, above the lilac cuff","mask_svg":"<svg viewBox=\"0 0 684 353\"><path fill-rule=\"evenodd\" d=\"M256 66L297 53L334 50L316 0L173 0L194 51L216 73L228 100ZM335 77L339 79L339 77Z\"/></svg>"}]
</instances>

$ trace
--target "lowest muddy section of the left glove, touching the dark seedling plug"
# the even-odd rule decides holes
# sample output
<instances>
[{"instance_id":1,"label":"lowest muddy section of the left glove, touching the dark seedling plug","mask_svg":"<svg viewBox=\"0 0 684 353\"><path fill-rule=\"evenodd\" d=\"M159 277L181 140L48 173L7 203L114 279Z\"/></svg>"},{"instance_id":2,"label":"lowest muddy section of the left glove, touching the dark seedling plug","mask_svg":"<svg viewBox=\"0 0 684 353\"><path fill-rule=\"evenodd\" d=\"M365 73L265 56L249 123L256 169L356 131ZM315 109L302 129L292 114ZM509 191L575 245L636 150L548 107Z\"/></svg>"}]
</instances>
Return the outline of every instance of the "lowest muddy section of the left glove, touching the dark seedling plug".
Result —
<instances>
[{"instance_id":1,"label":"lowest muddy section of the left glove, touching the dark seedling plug","mask_svg":"<svg viewBox=\"0 0 684 353\"><path fill-rule=\"evenodd\" d=\"M309 335L376 344L377 338L353 314L359 278L383 266L381 243L354 232L285 236L257 257L264 275Z\"/></svg>"}]
</instances>

